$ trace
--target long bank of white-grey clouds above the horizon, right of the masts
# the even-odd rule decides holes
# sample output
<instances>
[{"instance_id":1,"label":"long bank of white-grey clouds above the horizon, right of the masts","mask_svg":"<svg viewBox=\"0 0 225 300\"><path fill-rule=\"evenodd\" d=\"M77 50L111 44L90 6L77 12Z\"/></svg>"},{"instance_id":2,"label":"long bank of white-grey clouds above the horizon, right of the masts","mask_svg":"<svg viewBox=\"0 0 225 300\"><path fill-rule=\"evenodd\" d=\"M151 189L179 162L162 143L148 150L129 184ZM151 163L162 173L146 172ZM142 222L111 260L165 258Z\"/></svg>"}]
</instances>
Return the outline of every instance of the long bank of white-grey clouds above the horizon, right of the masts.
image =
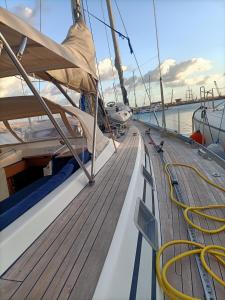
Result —
<instances>
[{"instance_id":1,"label":"long bank of white-grey clouds above the horizon, right of the masts","mask_svg":"<svg viewBox=\"0 0 225 300\"><path fill-rule=\"evenodd\" d=\"M191 58L182 62L177 62L175 59L166 59L161 64L161 73L163 78L164 87L176 88L179 97L183 97L183 92L187 87L190 87L195 91L196 94L199 93L199 87L205 86L207 90L215 89L214 81L217 82L219 88L224 86L225 74L213 73L213 62L205 58ZM143 75L144 82L146 83L146 88L149 89L149 76L151 77L151 95L157 94L159 97L159 70L156 67L153 70L148 71ZM143 83L140 77L133 79L133 76L124 79L125 87L128 94L133 98L132 90L134 88L134 83L136 86L136 94L142 95L144 92ZM119 85L116 85L119 91ZM225 89L224 89L225 90ZM223 90L223 91L224 91ZM129 93L131 91L131 93ZM112 96L114 89L108 87L105 90L107 96ZM166 94L166 89L165 89ZM181 96L182 95L182 96Z\"/></svg>"}]
</instances>

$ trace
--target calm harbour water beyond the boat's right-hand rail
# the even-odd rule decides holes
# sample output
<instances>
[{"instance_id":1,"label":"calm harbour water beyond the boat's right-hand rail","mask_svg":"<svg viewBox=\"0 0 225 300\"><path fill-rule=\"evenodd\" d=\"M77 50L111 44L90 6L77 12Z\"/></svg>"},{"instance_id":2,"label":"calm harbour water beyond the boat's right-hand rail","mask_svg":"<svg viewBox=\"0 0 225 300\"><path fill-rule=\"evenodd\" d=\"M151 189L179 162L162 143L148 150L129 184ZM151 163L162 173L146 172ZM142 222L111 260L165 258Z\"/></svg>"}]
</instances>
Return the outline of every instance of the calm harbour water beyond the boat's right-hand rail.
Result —
<instances>
[{"instance_id":1,"label":"calm harbour water beyond the boat's right-hand rail","mask_svg":"<svg viewBox=\"0 0 225 300\"><path fill-rule=\"evenodd\" d=\"M224 100L214 101L214 105L217 106L223 103ZM206 102L204 104L206 107L212 107L212 103ZM174 131L179 131L186 136L192 133L192 115L193 112L201 106L201 103L192 103L179 106L173 106L165 110L166 117L166 127ZM157 125L156 117L158 119L159 125L162 126L162 112L156 111L155 115L153 112L150 113L139 113L133 116L133 119L141 120L146 123L151 123ZM180 120L180 126L179 126Z\"/></svg>"}]
</instances>

